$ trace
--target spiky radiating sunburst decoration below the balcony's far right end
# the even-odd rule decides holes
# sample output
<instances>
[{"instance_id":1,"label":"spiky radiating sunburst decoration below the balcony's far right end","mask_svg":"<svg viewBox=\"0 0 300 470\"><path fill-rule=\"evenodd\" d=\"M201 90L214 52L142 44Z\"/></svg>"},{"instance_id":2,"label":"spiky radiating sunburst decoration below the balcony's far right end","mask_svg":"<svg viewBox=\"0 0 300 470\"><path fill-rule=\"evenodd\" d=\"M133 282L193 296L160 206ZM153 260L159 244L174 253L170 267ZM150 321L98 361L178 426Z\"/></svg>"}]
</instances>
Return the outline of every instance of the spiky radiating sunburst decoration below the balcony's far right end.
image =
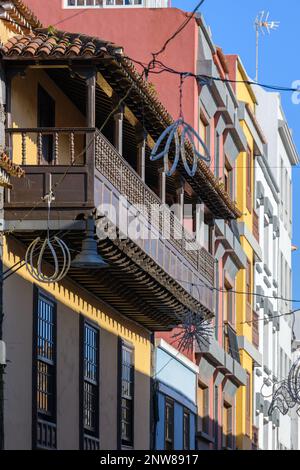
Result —
<instances>
[{"instance_id":1,"label":"spiky radiating sunburst decoration below the balcony's far right end","mask_svg":"<svg viewBox=\"0 0 300 470\"><path fill-rule=\"evenodd\" d=\"M188 310L184 317L179 331L172 338L179 351L192 351L195 341L200 351L210 344L213 335L211 321L206 319L202 313L195 313Z\"/></svg>"}]
</instances>

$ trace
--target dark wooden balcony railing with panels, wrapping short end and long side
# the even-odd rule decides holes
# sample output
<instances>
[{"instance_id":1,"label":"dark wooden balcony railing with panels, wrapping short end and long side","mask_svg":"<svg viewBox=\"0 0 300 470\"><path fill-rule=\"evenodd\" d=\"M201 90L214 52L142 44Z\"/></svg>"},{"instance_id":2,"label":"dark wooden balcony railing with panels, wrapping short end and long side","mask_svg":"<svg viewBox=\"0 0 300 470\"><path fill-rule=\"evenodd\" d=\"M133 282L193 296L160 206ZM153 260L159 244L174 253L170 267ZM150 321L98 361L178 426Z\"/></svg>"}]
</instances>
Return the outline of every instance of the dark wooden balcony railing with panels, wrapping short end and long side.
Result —
<instances>
[{"instance_id":1,"label":"dark wooden balcony railing with panels, wrapping short end and long side","mask_svg":"<svg viewBox=\"0 0 300 470\"><path fill-rule=\"evenodd\" d=\"M161 206L160 198L99 131L13 128L7 129L7 143L11 159L26 170L26 178L16 182L6 201L6 210L12 209L9 216L15 217L18 209L28 210L51 185L55 188L55 209L63 210L64 217L72 220L102 202L115 204L121 196L126 197L131 218L136 211L153 235L133 241L213 311L209 288L214 285L213 256L192 239L167 206ZM45 208L45 204L39 205L41 212ZM163 236L165 221L167 237Z\"/></svg>"}]
</instances>

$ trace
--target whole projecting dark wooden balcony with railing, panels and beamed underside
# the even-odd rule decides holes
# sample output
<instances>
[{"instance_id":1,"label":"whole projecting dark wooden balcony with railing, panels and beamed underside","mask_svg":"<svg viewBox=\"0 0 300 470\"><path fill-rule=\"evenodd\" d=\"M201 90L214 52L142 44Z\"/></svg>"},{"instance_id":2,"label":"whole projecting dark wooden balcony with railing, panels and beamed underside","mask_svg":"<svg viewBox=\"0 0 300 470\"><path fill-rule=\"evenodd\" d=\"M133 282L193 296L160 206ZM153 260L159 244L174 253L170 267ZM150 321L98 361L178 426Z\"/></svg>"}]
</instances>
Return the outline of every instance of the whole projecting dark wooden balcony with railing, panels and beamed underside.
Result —
<instances>
[{"instance_id":1,"label":"whole projecting dark wooden balcony with railing, panels and beamed underside","mask_svg":"<svg viewBox=\"0 0 300 470\"><path fill-rule=\"evenodd\" d=\"M135 239L128 233L127 239L123 241L99 242L99 250L106 259L109 258L109 262L114 262L116 249L122 253L124 272L120 269L117 273L114 269L111 274L119 276L118 282L124 284L124 292L130 292L133 287L137 291L140 289L141 293L137 295L142 300L143 295L146 295L145 271L149 276L149 286L150 278L155 278L160 295L155 299L153 293L151 296L148 293L147 302L151 304L149 312L156 311L157 318L163 318L162 311L169 312L169 320L167 316L164 322L159 320L160 324L164 323L162 329L167 329L168 324L176 324L175 313L181 308L189 307L197 311L201 306L207 313L213 314L214 293L211 287L214 284L214 258L191 239L191 235L167 206L161 208L160 198L97 129L8 129L7 141L12 160L20 163L26 171L26 178L15 182L13 191L6 192L5 200L5 219L10 226L19 227L15 233L21 241L28 244L45 227L47 204L43 198L51 188L55 195L51 211L53 230L56 221L58 226L63 221L72 223L91 214L103 203L117 207L121 197L126 198L126 216L129 219L138 217L141 226L149 230L151 237ZM112 225L115 224L119 231L122 230L120 220L113 220L109 213L105 214L105 218ZM164 231L165 219L170 222L167 237ZM19 224L19 220L27 224L26 233L25 225ZM30 231L33 233L29 234ZM67 236L71 237L68 239L71 246L80 250L84 232L77 235L77 238L74 234ZM139 272L143 276L138 281L133 274L124 274L128 262L140 263ZM91 275L93 279L89 277L90 273L80 274L71 270L70 275L86 288L92 285L94 293L108 302L114 298L110 273L99 273L97 279L101 278L101 288L95 276ZM120 295L121 292L119 288ZM174 296L175 300L172 300ZM137 321L142 318L141 323L149 329L159 329L157 322L145 320L148 307L137 301L135 304L133 318ZM139 317L136 312L141 310L143 314ZM128 303L124 306L125 311L131 311Z\"/></svg>"}]
</instances>

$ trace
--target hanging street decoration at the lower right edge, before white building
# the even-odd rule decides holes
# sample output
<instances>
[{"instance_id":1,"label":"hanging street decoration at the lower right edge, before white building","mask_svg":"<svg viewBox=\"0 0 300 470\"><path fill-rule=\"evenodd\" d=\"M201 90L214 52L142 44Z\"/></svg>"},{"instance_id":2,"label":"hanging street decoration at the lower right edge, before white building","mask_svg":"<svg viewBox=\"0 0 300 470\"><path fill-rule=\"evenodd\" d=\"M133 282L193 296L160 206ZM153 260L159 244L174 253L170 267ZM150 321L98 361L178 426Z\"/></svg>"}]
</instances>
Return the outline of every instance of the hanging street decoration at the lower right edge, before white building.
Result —
<instances>
[{"instance_id":1,"label":"hanging street decoration at the lower right edge, before white building","mask_svg":"<svg viewBox=\"0 0 300 470\"><path fill-rule=\"evenodd\" d=\"M269 416L277 409L287 415L289 410L298 406L300 416L300 357L293 364L288 379L274 385L273 399L269 408Z\"/></svg>"}]
</instances>

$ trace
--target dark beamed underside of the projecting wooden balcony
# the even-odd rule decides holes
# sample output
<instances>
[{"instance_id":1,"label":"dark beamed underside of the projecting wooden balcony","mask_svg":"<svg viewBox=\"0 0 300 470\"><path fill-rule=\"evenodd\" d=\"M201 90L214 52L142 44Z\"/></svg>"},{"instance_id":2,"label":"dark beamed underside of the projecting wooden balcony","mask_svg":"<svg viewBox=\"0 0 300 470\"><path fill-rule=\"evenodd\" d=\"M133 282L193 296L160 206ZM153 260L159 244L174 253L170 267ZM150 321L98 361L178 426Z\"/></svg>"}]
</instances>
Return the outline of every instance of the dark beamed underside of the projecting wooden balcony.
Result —
<instances>
[{"instance_id":1,"label":"dark beamed underside of the projecting wooden balcony","mask_svg":"<svg viewBox=\"0 0 300 470\"><path fill-rule=\"evenodd\" d=\"M82 222L77 223L79 227ZM83 226L83 224L82 224ZM77 228L76 227L76 228ZM9 230L9 225L6 225ZM72 257L81 250L84 230L51 232L64 240ZM15 231L10 237L20 243L23 252L45 232ZM212 316L178 282L172 279L149 256L130 240L101 240L98 252L108 263L104 269L71 267L68 277L122 315L150 331L168 331L179 325L187 310ZM51 253L45 254L45 272L53 272Z\"/></svg>"}]
</instances>

